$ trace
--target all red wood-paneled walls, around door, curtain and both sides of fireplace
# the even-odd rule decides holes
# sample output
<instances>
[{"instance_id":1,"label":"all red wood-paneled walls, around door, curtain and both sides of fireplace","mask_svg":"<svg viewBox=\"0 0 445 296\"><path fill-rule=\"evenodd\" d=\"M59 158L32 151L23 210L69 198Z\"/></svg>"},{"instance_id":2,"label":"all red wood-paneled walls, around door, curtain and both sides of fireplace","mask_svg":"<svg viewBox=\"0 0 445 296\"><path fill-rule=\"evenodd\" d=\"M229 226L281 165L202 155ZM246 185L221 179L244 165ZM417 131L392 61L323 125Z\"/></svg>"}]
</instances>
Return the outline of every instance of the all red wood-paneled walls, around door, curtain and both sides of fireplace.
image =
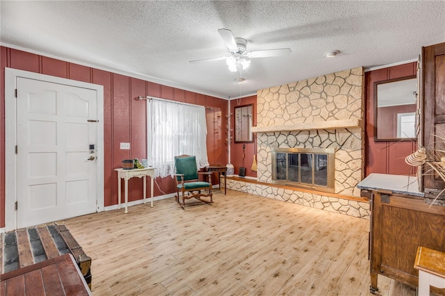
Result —
<instances>
[{"instance_id":1,"label":"all red wood-paneled walls, around door, curtain and both sides of fireplace","mask_svg":"<svg viewBox=\"0 0 445 296\"><path fill-rule=\"evenodd\" d=\"M4 227L5 214L5 67L38 72L52 76L95 83L104 86L104 197L105 206L118 204L118 182L114 169L121 167L122 159L145 158L147 133L146 101L136 101L138 96L153 96L190 104L206 106L207 150L209 163L225 165L227 159L227 101L204 94L171 88L166 85L143 81L121 74L76 65L54 58L47 58L25 51L0 47L0 227ZM410 174L411 167L405 164L405 156L416 149L416 142L375 142L374 141L374 94L373 83L416 74L416 63L408 63L365 73L366 83L366 176L376 172L382 174ZM254 105L253 125L257 124L257 96L234 99L230 109L232 115L236 106ZM231 118L234 126L234 116ZM254 138L256 135L254 134ZM130 142L130 150L120 150L120 142ZM243 158L243 144L245 153ZM238 174L239 167L246 167L246 176L256 177L250 170L255 153L256 141L252 143L231 143L231 163ZM214 178L216 180L217 178ZM129 182L129 200L140 199L142 183L139 179ZM154 195L175 192L173 179L158 178ZM147 186L149 192L150 188Z\"/></svg>"}]
</instances>

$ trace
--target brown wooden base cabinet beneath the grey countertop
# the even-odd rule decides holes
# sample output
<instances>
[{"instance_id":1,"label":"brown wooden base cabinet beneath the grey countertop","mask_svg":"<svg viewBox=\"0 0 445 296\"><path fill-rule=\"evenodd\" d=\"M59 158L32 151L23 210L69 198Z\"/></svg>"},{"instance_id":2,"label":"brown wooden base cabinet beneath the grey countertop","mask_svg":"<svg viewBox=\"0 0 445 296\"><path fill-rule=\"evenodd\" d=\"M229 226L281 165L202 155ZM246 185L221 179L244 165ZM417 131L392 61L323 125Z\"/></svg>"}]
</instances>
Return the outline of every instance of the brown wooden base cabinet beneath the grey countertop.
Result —
<instances>
[{"instance_id":1,"label":"brown wooden base cabinet beneath the grey countertop","mask_svg":"<svg viewBox=\"0 0 445 296\"><path fill-rule=\"evenodd\" d=\"M378 274L417 286L417 247L445 252L445 207L430 206L423 197L373 190L369 238L371 293L378 290ZM431 291L445 295L443 289Z\"/></svg>"}]
</instances>

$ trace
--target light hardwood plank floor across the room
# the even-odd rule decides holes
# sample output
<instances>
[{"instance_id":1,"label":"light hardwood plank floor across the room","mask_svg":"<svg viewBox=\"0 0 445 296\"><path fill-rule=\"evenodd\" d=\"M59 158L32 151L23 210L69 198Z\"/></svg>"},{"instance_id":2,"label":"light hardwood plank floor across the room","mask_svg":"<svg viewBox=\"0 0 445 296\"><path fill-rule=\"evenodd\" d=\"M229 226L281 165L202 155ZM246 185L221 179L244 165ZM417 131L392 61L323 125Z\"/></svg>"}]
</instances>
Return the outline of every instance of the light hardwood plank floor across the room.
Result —
<instances>
[{"instance_id":1,"label":"light hardwood plank floor across the room","mask_svg":"<svg viewBox=\"0 0 445 296\"><path fill-rule=\"evenodd\" d=\"M92 257L93 295L371 295L369 220L214 190L65 221ZM379 276L377 295L415 290Z\"/></svg>"}]
</instances>

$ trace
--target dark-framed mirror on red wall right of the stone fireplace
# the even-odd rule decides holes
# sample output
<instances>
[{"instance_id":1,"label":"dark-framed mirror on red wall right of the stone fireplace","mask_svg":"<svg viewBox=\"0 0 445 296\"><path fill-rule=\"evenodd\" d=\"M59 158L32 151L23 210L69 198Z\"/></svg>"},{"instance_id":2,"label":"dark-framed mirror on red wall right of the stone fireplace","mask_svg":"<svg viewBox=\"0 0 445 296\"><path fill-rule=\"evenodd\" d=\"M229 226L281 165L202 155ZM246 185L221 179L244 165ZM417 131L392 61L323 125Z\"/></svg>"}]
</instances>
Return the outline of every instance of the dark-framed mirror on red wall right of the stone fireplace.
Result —
<instances>
[{"instance_id":1,"label":"dark-framed mirror on red wall right of the stone fireplace","mask_svg":"<svg viewBox=\"0 0 445 296\"><path fill-rule=\"evenodd\" d=\"M415 76L374 83L375 140L416 138Z\"/></svg>"}]
</instances>

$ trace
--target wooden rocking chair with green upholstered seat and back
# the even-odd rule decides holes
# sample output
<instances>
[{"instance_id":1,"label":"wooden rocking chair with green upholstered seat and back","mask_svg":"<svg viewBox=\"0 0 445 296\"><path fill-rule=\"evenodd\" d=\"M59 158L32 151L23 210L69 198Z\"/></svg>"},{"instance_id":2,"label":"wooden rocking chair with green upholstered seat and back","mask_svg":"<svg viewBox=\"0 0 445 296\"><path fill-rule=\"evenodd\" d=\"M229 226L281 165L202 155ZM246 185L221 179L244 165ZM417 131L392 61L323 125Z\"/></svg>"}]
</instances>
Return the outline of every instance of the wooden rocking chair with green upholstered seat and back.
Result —
<instances>
[{"instance_id":1,"label":"wooden rocking chair with green upholstered seat and back","mask_svg":"<svg viewBox=\"0 0 445 296\"><path fill-rule=\"evenodd\" d=\"M209 182L199 181L198 174L206 174L209 176ZM177 190L176 201L181 208L186 206L186 199L191 198L198 199L200 202L206 204L213 202L211 193L211 173L197 171L195 156L175 156L175 179ZM207 190L207 194L202 193L202 191ZM181 192L181 197L179 192ZM210 199L207 201L201 197L210 197Z\"/></svg>"}]
</instances>

